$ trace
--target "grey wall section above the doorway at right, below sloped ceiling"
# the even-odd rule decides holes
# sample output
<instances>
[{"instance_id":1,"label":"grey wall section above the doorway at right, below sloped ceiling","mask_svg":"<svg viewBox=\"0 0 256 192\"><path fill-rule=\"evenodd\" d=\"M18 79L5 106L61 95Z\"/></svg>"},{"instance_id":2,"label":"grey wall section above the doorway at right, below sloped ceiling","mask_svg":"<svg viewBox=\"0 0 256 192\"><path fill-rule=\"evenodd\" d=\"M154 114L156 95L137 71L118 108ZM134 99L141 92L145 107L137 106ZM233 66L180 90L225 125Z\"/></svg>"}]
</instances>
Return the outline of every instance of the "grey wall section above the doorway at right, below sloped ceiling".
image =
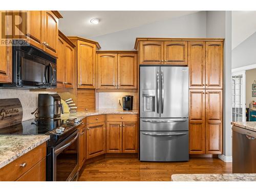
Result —
<instances>
[{"instance_id":1,"label":"grey wall section above the doorway at right, below sloped ceiling","mask_svg":"<svg viewBox=\"0 0 256 192\"><path fill-rule=\"evenodd\" d=\"M256 63L256 32L232 50L232 69Z\"/></svg>"}]
</instances>

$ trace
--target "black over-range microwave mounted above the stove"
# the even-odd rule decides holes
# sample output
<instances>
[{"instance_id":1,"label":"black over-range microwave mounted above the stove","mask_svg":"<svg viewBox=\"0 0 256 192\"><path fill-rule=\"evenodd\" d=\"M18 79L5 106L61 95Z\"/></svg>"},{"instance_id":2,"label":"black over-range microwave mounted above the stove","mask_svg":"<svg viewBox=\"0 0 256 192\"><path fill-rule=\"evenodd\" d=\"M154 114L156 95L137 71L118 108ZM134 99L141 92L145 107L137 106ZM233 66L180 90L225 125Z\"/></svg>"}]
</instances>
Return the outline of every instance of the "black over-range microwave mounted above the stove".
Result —
<instances>
[{"instance_id":1,"label":"black over-range microwave mounted above the stove","mask_svg":"<svg viewBox=\"0 0 256 192\"><path fill-rule=\"evenodd\" d=\"M18 42L17 42L18 41ZM56 88L56 58L27 44L13 40L12 83L1 83L2 88Z\"/></svg>"}]
</instances>

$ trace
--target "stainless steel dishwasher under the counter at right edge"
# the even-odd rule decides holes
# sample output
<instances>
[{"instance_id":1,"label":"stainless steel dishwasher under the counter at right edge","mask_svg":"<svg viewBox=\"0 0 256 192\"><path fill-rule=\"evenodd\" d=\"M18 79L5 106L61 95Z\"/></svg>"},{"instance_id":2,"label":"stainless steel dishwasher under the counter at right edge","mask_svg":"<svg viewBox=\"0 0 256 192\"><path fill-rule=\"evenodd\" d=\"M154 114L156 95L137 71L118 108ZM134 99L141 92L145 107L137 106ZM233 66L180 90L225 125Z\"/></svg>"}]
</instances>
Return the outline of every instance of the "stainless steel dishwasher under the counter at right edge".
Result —
<instances>
[{"instance_id":1,"label":"stainless steel dishwasher under the counter at right edge","mask_svg":"<svg viewBox=\"0 0 256 192\"><path fill-rule=\"evenodd\" d=\"M256 132L232 127L232 173L256 173Z\"/></svg>"}]
</instances>

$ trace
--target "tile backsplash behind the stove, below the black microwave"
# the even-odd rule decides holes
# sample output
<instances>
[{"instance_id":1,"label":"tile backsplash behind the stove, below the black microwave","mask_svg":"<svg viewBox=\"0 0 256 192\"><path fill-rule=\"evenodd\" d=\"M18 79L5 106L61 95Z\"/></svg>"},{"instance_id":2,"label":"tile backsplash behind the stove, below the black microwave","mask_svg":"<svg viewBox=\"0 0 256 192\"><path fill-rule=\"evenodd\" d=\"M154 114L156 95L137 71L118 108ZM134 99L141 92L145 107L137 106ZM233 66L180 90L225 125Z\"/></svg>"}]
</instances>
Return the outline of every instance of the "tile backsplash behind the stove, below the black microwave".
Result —
<instances>
[{"instance_id":1,"label":"tile backsplash behind the stove, below the black microwave","mask_svg":"<svg viewBox=\"0 0 256 192\"><path fill-rule=\"evenodd\" d=\"M39 93L54 94L56 92L30 92L29 90L0 89L0 99L18 98L23 108L22 120L26 121L34 118L34 115L31 115L31 113L37 108L37 97Z\"/></svg>"}]
</instances>

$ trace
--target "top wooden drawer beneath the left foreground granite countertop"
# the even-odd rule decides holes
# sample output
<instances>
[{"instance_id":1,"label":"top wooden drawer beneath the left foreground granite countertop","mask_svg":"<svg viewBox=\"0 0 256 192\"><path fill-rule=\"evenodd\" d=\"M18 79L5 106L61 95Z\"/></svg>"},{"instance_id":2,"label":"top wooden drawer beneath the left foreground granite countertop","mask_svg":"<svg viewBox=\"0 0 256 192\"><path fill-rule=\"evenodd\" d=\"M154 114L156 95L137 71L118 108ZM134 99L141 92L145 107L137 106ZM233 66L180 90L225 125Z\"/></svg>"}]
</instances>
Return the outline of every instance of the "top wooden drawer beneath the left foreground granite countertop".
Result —
<instances>
[{"instance_id":1,"label":"top wooden drawer beneath the left foreground granite countertop","mask_svg":"<svg viewBox=\"0 0 256 192\"><path fill-rule=\"evenodd\" d=\"M46 142L0 169L0 181L15 181L46 157ZM25 167L20 164L26 163Z\"/></svg>"}]
</instances>

